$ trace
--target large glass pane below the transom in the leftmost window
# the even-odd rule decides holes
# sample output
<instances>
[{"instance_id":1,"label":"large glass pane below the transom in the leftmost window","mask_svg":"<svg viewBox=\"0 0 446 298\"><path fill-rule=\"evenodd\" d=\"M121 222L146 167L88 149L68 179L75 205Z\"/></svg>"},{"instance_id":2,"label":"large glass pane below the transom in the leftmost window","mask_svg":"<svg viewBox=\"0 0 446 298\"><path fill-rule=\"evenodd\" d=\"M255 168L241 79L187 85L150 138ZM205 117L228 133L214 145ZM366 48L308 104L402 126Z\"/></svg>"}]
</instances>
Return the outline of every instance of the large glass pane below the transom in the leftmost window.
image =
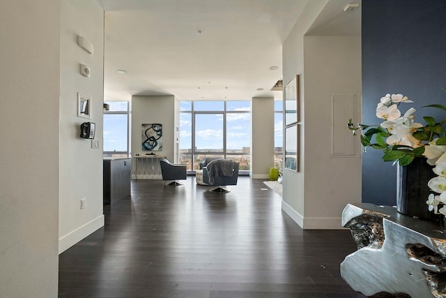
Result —
<instances>
[{"instance_id":1,"label":"large glass pane below the transom in the leftmost window","mask_svg":"<svg viewBox=\"0 0 446 298\"><path fill-rule=\"evenodd\" d=\"M104 114L104 151L127 151L127 114Z\"/></svg>"}]
</instances>

